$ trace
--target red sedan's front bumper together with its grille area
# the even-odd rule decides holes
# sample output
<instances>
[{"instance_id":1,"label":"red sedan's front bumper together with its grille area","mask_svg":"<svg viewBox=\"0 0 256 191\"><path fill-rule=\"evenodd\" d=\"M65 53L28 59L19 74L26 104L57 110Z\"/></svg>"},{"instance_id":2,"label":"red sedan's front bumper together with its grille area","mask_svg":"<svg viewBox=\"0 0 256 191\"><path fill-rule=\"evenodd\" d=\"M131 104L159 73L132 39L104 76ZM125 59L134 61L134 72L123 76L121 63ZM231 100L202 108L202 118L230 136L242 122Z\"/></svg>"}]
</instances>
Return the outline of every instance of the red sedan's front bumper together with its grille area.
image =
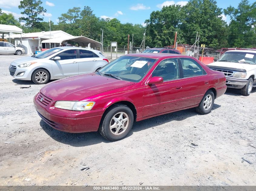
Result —
<instances>
[{"instance_id":1,"label":"red sedan's front bumper together with its grille area","mask_svg":"<svg viewBox=\"0 0 256 191\"><path fill-rule=\"evenodd\" d=\"M46 102L40 101L44 97ZM97 131L104 109L89 111L71 111L54 107L55 101L38 93L34 97L34 106L38 115L54 129L64 132L81 133Z\"/></svg>"}]
</instances>

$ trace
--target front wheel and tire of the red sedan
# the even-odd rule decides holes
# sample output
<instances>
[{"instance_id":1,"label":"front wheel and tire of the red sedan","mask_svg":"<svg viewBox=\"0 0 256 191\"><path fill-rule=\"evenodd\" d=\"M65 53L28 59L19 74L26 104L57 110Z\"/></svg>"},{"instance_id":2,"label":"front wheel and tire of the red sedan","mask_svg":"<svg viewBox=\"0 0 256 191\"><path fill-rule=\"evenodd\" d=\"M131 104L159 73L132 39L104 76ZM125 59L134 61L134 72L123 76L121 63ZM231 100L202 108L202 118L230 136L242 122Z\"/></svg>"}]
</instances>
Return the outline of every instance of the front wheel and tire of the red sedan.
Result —
<instances>
[{"instance_id":1,"label":"front wheel and tire of the red sedan","mask_svg":"<svg viewBox=\"0 0 256 191\"><path fill-rule=\"evenodd\" d=\"M110 107L102 119L98 131L109 141L125 138L133 125L133 113L123 104Z\"/></svg>"}]
</instances>

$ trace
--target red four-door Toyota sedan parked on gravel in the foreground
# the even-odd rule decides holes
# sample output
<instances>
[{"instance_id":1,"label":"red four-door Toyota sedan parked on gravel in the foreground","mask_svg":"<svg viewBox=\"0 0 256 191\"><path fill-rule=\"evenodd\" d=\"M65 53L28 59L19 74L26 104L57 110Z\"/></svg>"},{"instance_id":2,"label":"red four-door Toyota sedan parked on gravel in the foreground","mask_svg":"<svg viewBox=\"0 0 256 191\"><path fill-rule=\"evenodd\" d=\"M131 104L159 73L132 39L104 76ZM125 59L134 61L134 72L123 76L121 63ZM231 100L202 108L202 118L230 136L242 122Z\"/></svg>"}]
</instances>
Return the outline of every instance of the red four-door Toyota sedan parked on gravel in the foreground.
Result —
<instances>
[{"instance_id":1,"label":"red four-door Toyota sedan parked on gravel in the foreground","mask_svg":"<svg viewBox=\"0 0 256 191\"><path fill-rule=\"evenodd\" d=\"M97 72L54 81L34 97L39 116L60 131L124 138L133 122L195 107L211 111L226 79L190 56L130 54Z\"/></svg>"}]
</instances>

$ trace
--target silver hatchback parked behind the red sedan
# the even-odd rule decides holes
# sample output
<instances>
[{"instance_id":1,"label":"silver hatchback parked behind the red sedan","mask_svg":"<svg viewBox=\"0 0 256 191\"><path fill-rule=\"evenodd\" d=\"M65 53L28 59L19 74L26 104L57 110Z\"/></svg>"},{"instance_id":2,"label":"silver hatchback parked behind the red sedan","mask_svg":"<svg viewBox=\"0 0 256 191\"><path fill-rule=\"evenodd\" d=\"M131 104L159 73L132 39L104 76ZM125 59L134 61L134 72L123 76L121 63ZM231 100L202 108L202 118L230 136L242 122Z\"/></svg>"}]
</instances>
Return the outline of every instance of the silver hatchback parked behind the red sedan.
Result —
<instances>
[{"instance_id":1,"label":"silver hatchback parked behind the red sedan","mask_svg":"<svg viewBox=\"0 0 256 191\"><path fill-rule=\"evenodd\" d=\"M56 47L15 60L10 75L19 80L46 84L49 80L92 73L108 64L100 51L79 47Z\"/></svg>"}]
</instances>

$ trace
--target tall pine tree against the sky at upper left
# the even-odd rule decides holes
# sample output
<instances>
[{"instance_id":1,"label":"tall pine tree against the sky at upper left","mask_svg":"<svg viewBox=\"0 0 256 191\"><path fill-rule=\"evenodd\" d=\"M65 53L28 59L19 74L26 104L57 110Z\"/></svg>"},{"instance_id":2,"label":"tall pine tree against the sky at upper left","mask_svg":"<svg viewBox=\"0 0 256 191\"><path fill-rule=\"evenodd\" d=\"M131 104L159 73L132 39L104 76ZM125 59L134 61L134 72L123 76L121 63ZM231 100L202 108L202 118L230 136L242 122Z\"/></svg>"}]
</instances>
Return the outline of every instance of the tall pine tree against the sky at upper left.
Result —
<instances>
[{"instance_id":1,"label":"tall pine tree against the sky at upper left","mask_svg":"<svg viewBox=\"0 0 256 191\"><path fill-rule=\"evenodd\" d=\"M21 14L26 14L27 17L20 17L20 21L25 21L26 26L34 28L39 21L43 21L43 18L38 17L38 15L46 13L46 9L42 6L42 1L40 0L23 0L18 6L19 9L24 9Z\"/></svg>"}]
</instances>

